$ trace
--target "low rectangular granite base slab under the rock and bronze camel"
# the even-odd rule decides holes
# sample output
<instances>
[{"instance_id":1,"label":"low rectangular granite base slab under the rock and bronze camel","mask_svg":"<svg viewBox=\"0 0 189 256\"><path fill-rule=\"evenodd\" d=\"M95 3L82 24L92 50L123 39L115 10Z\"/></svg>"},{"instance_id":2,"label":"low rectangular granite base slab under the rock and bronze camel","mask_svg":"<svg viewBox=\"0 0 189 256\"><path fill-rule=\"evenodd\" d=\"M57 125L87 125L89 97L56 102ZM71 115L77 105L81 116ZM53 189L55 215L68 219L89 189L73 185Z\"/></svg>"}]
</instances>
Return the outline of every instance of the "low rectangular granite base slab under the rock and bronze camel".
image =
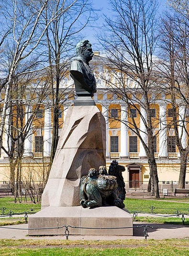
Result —
<instances>
[{"instance_id":1,"label":"low rectangular granite base slab under the rock and bronze camel","mask_svg":"<svg viewBox=\"0 0 189 256\"><path fill-rule=\"evenodd\" d=\"M115 206L96 208L49 206L29 216L31 230L28 234L64 235L66 228L61 228L64 225L71 226L68 227L69 235L133 235L131 214L125 208L120 209Z\"/></svg>"}]
</instances>

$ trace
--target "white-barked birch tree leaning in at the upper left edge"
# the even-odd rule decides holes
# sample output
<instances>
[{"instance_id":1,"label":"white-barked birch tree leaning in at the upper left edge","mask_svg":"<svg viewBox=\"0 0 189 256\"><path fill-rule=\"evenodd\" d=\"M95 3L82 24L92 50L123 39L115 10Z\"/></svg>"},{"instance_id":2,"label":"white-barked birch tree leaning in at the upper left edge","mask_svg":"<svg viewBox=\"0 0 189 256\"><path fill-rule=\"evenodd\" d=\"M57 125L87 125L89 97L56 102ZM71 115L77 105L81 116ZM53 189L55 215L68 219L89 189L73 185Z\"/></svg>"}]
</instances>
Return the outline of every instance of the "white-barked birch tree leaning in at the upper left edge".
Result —
<instances>
[{"instance_id":1,"label":"white-barked birch tree leaning in at the upper left edge","mask_svg":"<svg viewBox=\"0 0 189 256\"><path fill-rule=\"evenodd\" d=\"M0 153L10 87L14 77L18 75L19 65L24 61L27 63L29 60L32 60L32 56L35 56L37 49L39 49L39 43L44 37L48 25L55 21L60 13L67 12L77 2L77 0L73 0L66 7L61 5L60 9L51 10L46 23L43 15L46 12L46 8L48 8L49 1L3 0L4 12L2 14L7 15L7 26L11 28L11 36L9 35L7 43L11 46L12 58L9 63L9 70L7 70L6 91L0 124ZM28 67L28 71L31 71L31 69L31 66Z\"/></svg>"}]
</instances>

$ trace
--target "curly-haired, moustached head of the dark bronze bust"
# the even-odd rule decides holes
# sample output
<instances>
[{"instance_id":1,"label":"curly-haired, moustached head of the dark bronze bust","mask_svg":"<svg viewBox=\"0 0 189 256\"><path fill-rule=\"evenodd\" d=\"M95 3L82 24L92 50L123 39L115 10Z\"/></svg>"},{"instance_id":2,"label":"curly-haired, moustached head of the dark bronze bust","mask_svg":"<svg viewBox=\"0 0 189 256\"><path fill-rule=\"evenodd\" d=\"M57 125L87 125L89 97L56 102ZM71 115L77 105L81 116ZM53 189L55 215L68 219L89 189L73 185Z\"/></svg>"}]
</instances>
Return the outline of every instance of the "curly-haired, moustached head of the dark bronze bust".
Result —
<instances>
[{"instance_id":1,"label":"curly-haired, moustached head of the dark bronze bust","mask_svg":"<svg viewBox=\"0 0 189 256\"><path fill-rule=\"evenodd\" d=\"M81 40L76 46L77 55L87 61L91 61L94 56L91 46L89 40Z\"/></svg>"}]
</instances>

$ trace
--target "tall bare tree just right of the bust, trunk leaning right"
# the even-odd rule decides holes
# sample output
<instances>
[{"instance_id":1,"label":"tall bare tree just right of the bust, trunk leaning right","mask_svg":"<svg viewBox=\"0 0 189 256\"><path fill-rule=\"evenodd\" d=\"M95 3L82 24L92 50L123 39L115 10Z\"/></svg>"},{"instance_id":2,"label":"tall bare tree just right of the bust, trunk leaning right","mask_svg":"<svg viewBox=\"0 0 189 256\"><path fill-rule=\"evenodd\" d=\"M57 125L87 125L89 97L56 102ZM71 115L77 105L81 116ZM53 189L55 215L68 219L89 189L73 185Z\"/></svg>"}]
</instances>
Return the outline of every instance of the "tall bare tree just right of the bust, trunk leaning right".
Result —
<instances>
[{"instance_id":1,"label":"tall bare tree just right of the bust, trunk leaning right","mask_svg":"<svg viewBox=\"0 0 189 256\"><path fill-rule=\"evenodd\" d=\"M158 198L158 176L153 146L155 134L150 110L151 104L154 103L151 93L155 88L153 54L157 43L156 1L111 0L110 3L116 18L112 20L106 17L107 36L101 38L101 44L111 59L112 65L109 69L114 77L118 71L121 72L121 78L117 77L119 86L113 83L111 90L121 96L130 111L132 108L137 110L144 124L145 131L142 131L132 118L133 122L129 127L140 138L145 149L152 193ZM133 88L126 84L129 80L132 81ZM141 100L135 97L137 94L141 96ZM130 95L135 96L132 98Z\"/></svg>"}]
</instances>

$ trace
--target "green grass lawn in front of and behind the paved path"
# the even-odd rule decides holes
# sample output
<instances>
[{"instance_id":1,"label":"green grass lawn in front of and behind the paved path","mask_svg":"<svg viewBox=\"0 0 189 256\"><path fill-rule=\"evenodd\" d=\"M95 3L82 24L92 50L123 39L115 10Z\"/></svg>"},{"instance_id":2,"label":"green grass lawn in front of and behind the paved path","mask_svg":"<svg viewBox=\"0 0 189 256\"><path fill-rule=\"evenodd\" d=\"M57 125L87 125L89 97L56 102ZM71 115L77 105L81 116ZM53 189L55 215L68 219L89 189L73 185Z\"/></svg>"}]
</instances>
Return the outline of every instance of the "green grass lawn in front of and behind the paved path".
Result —
<instances>
[{"instance_id":1,"label":"green grass lawn in front of and behind the paved path","mask_svg":"<svg viewBox=\"0 0 189 256\"><path fill-rule=\"evenodd\" d=\"M146 200L126 198L126 208L159 214L173 214L176 210L189 214L189 204L182 200L167 202L164 200ZM40 210L40 204L30 202L14 203L14 198L0 198L0 208L6 207L17 213ZM21 222L20 222L21 221ZM145 223L181 224L181 218L136 217L136 221ZM23 223L24 218L0 218L0 226ZM189 219L185 219L189 225ZM189 256L189 239L164 240L116 240L116 241L71 241L71 240L0 240L1 256Z\"/></svg>"}]
</instances>

